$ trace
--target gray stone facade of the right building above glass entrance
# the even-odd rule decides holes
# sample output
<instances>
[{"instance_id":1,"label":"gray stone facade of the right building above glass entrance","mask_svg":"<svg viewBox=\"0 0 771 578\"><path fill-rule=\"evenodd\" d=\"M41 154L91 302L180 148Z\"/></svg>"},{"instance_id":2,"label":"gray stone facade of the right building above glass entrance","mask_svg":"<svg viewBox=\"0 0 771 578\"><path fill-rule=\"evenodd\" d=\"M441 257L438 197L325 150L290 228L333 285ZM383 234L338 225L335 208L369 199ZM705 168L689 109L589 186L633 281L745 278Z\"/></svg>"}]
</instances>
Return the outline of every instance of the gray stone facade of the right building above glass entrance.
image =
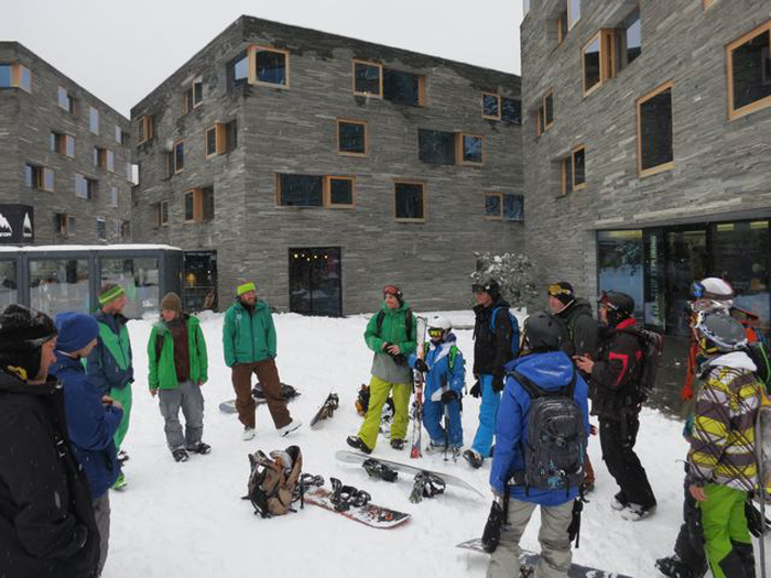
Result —
<instances>
[{"instance_id":1,"label":"gray stone facade of the right building above glass entrance","mask_svg":"<svg viewBox=\"0 0 771 578\"><path fill-rule=\"evenodd\" d=\"M726 45L771 19L768 0L584 0L557 43L565 0L533 0L522 22L528 253L542 283L597 294L598 230L771 215L771 108L729 120ZM582 48L640 8L642 54L584 96ZM638 98L673 81L674 167L638 176ZM554 91L554 126L535 111ZM561 159L586 148L586 187L561 196Z\"/></svg>"}]
</instances>

